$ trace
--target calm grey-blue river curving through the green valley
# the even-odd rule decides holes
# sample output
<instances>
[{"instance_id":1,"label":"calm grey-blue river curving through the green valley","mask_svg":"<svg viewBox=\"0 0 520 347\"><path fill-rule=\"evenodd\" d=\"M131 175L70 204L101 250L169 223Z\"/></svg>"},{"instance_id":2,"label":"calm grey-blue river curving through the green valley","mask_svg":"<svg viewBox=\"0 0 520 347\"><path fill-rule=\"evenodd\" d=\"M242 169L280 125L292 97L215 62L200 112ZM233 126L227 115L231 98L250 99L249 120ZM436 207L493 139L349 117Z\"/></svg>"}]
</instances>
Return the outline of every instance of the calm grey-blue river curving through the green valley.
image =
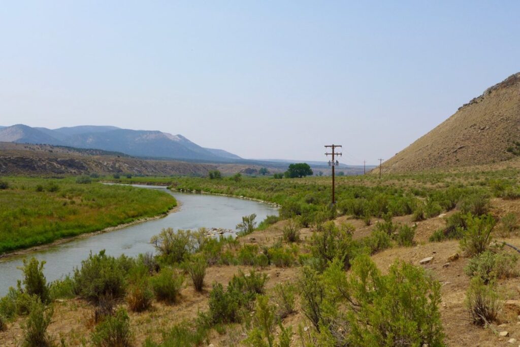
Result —
<instances>
[{"instance_id":1,"label":"calm grey-blue river curving through the green valley","mask_svg":"<svg viewBox=\"0 0 520 347\"><path fill-rule=\"evenodd\" d=\"M256 213L256 221L262 221L268 215L278 215L276 208L245 199L209 195L188 194L166 190L162 186L136 185L147 189L164 190L177 199L180 210L170 213L164 218L134 224L85 238L72 239L70 242L35 251L25 256L17 256L0 261L0 296L6 295L9 287L16 287L22 272L17 269L22 265L24 257L36 257L45 260L44 274L47 282L54 281L79 266L83 259L92 251L97 253L106 249L108 255L136 256L139 253L153 251L150 238L158 234L162 228L198 229L224 228L235 230L242 221L242 216Z\"/></svg>"}]
</instances>

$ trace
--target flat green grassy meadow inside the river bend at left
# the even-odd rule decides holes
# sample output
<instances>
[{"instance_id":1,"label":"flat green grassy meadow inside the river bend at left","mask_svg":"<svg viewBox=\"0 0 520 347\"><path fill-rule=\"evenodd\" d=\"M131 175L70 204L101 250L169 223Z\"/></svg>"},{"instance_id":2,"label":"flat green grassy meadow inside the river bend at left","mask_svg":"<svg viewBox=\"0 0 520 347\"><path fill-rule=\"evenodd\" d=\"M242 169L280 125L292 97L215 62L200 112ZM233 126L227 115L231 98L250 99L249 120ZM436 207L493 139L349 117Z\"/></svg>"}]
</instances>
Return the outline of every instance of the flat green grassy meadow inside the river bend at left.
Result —
<instances>
[{"instance_id":1,"label":"flat green grassy meadow inside the river bend at left","mask_svg":"<svg viewBox=\"0 0 520 347\"><path fill-rule=\"evenodd\" d=\"M177 205L165 192L64 179L4 177L0 253L153 217ZM40 190L40 191L37 191Z\"/></svg>"}]
</instances>

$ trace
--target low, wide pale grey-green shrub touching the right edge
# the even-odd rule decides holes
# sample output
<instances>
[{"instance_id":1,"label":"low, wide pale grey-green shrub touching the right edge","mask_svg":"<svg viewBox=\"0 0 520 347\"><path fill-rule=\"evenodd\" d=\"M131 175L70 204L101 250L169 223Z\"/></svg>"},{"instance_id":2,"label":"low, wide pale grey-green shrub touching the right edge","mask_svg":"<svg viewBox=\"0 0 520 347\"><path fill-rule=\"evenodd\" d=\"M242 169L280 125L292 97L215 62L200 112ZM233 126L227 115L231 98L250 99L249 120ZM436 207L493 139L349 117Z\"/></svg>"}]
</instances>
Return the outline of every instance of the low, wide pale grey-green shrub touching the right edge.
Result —
<instances>
[{"instance_id":1,"label":"low, wide pale grey-green shrub touching the right edge","mask_svg":"<svg viewBox=\"0 0 520 347\"><path fill-rule=\"evenodd\" d=\"M488 284L497 278L517 277L518 271L515 269L517 261L518 253L486 250L470 259L464 272L468 276L478 276Z\"/></svg>"}]
</instances>

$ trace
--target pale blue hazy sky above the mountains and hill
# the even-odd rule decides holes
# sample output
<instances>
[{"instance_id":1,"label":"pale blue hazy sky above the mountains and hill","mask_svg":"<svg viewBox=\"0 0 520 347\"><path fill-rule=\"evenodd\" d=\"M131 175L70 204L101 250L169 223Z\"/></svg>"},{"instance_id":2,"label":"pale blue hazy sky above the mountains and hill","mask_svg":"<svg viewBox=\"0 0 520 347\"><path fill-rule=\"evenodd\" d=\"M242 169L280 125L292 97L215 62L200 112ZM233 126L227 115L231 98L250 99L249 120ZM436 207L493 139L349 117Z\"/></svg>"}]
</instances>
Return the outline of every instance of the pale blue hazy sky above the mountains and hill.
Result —
<instances>
[{"instance_id":1,"label":"pale blue hazy sky above the mountains and hill","mask_svg":"<svg viewBox=\"0 0 520 347\"><path fill-rule=\"evenodd\" d=\"M0 125L388 159L520 71L518 1L5 1Z\"/></svg>"}]
</instances>

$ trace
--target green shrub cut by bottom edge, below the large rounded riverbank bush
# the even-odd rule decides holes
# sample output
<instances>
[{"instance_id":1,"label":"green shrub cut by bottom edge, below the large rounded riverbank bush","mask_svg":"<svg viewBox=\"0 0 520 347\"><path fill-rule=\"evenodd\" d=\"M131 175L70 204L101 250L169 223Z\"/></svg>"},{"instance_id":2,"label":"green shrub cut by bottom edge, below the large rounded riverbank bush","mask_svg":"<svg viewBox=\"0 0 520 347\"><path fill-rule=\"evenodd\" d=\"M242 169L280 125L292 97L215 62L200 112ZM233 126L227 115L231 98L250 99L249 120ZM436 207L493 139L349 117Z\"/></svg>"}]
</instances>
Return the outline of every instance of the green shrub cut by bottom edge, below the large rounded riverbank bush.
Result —
<instances>
[{"instance_id":1,"label":"green shrub cut by bottom edge, below the large rounded riverbank bush","mask_svg":"<svg viewBox=\"0 0 520 347\"><path fill-rule=\"evenodd\" d=\"M130 329L130 318L124 308L119 308L113 316L107 316L90 336L97 347L129 347L133 345L134 335Z\"/></svg>"}]
</instances>

